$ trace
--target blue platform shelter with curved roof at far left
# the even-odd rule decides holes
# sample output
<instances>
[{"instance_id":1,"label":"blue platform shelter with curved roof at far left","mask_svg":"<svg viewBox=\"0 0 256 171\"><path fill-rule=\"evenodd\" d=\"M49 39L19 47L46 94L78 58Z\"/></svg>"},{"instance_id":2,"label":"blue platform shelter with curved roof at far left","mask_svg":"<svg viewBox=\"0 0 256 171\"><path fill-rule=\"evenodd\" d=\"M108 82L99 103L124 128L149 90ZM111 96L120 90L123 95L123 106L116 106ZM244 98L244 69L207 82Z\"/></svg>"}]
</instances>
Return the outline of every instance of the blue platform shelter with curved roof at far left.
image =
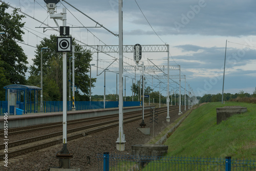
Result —
<instances>
[{"instance_id":1,"label":"blue platform shelter with curved roof at far left","mask_svg":"<svg viewBox=\"0 0 256 171\"><path fill-rule=\"evenodd\" d=\"M42 90L36 86L12 84L4 87L6 89L5 99L7 101L8 114L16 115L16 110L23 110L23 113L37 113L38 91ZM23 100L23 101L22 101ZM7 112L7 111L6 111Z\"/></svg>"}]
</instances>

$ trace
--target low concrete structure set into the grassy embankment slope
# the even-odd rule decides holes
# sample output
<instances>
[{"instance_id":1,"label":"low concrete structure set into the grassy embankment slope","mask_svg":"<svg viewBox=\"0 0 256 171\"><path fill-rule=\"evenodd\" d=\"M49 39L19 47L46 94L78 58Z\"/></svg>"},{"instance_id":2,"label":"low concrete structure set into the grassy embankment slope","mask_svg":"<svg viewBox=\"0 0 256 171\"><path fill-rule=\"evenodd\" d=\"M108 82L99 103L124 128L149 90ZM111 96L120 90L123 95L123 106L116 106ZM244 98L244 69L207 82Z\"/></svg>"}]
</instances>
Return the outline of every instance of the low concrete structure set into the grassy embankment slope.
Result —
<instances>
[{"instance_id":1,"label":"low concrete structure set into the grassy embankment slope","mask_svg":"<svg viewBox=\"0 0 256 171\"><path fill-rule=\"evenodd\" d=\"M223 108L216 108L217 112L217 124L221 121L226 120L232 115L241 114L247 111L247 108L241 106L225 106Z\"/></svg>"}]
</instances>

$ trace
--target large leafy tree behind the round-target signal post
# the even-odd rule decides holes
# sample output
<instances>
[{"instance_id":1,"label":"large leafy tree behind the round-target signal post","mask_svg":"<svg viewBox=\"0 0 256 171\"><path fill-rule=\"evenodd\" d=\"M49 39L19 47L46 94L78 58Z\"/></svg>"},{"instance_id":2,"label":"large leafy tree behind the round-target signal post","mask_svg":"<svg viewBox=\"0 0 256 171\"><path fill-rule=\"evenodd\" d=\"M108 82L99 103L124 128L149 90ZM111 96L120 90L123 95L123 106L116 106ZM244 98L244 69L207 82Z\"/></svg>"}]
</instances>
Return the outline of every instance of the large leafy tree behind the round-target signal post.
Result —
<instances>
[{"instance_id":1,"label":"large leafy tree behind the round-target signal post","mask_svg":"<svg viewBox=\"0 0 256 171\"><path fill-rule=\"evenodd\" d=\"M62 53L57 52L57 36L51 35L50 38L44 38L40 45L37 45L37 50L35 51L35 58L33 60L33 65L30 67L30 74L29 83L32 84L40 84L40 79L34 79L36 76L40 76L41 70L41 48L48 47L48 49L44 50L42 55L42 74L43 74L43 88L49 84L49 81L57 86L55 89L61 96L51 97L51 99L60 100L62 98ZM79 49L82 48L75 42L75 39L72 40L72 44ZM72 57L72 53L67 53L68 61L70 57ZM90 76L86 73L90 70L90 61L92 60L92 54L88 51L84 51L83 53L76 53L75 54L75 86L77 87L77 100L85 100L88 99L86 96L89 95L90 91ZM69 62L67 65L68 73L69 73ZM72 71L72 67L71 67ZM67 74L69 75L69 74ZM96 82L96 78L92 78L92 87L94 87L94 82ZM36 82L35 82L36 81ZM38 82L39 81L39 82ZM72 81L72 78L71 78ZM67 86L69 84L67 83ZM43 91L44 95L47 90ZM79 95L78 95L79 94ZM44 96L44 100L47 96Z\"/></svg>"}]
</instances>

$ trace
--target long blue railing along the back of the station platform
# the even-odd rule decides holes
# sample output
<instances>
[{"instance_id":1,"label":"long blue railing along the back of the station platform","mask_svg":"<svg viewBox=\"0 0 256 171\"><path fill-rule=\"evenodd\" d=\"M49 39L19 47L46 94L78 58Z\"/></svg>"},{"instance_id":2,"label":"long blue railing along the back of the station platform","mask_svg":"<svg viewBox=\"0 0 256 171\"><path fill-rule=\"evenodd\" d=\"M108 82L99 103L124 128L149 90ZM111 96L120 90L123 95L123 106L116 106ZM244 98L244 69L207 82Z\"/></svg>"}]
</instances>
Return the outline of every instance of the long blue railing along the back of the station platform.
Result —
<instances>
[{"instance_id":1,"label":"long blue railing along the back of the station platform","mask_svg":"<svg viewBox=\"0 0 256 171\"><path fill-rule=\"evenodd\" d=\"M24 113L40 112L40 102L38 103L23 103L17 102L19 109L24 110ZM118 101L105 101L105 108L118 108ZM44 112L61 112L63 111L62 101L44 101ZM139 101L124 101L123 106L139 106ZM76 110L103 109L103 101L75 101ZM72 101L67 102L67 110L72 110ZM10 106L10 114L13 115L14 106ZM7 101L0 101L0 115L7 112Z\"/></svg>"}]
</instances>

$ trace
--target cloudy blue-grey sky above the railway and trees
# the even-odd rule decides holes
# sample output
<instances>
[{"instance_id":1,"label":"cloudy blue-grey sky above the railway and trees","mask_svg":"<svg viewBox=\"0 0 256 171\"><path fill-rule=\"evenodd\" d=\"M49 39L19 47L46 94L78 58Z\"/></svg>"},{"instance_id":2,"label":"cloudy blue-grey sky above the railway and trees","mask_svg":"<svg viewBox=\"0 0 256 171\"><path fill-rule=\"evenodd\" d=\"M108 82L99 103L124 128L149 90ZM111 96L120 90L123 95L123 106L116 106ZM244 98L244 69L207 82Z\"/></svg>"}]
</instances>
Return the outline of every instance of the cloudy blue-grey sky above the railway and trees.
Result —
<instances>
[{"instance_id":1,"label":"cloudy blue-grey sky above the railway and trees","mask_svg":"<svg viewBox=\"0 0 256 171\"><path fill-rule=\"evenodd\" d=\"M118 1L69 1L96 22L118 34ZM137 3L136 3L137 1ZM188 84L197 96L222 93L223 68L226 51L225 93L238 93L240 90L252 94L256 87L256 2L253 0L176 0L176 1L123 1L123 45L169 45L171 66L181 66L181 74L186 75ZM20 8L31 17L56 27L47 13L43 0L5 1L11 6ZM138 4L138 5L137 5ZM139 7L138 7L139 6ZM95 27L96 23L84 16L66 2L57 5L57 13L66 7L67 24L70 27ZM142 12L144 14L142 14ZM43 33L41 23L28 17L24 19L25 44L40 44L41 37L58 32L47 30ZM150 25L147 23L150 23ZM58 22L62 25L62 22ZM154 30L153 30L153 29ZM118 37L103 28L73 28L73 37L87 45L118 45ZM22 45L32 65L35 48ZM124 65L136 65L132 53L124 53ZM98 74L108 67L118 54L99 54ZM151 61L147 60L151 59ZM167 65L167 53L143 53L144 65ZM96 54L92 64L96 64ZM154 63L154 64L153 64ZM117 70L118 62L114 61L109 71ZM163 74L161 72L147 75ZM165 71L166 72L166 71ZM96 67L92 67L92 76L97 78L93 94L103 94L104 73L96 75ZM178 71L170 71L177 75ZM124 72L126 76L126 95L131 95L132 78L135 72ZM136 72L139 79L140 72ZM159 80L148 79L147 85L159 91ZM166 80L161 80L161 93L166 95ZM178 81L178 80L174 80ZM182 80L184 88L184 80ZM171 81L170 90L177 91L178 85ZM106 72L106 94L116 93L116 74Z\"/></svg>"}]
</instances>

